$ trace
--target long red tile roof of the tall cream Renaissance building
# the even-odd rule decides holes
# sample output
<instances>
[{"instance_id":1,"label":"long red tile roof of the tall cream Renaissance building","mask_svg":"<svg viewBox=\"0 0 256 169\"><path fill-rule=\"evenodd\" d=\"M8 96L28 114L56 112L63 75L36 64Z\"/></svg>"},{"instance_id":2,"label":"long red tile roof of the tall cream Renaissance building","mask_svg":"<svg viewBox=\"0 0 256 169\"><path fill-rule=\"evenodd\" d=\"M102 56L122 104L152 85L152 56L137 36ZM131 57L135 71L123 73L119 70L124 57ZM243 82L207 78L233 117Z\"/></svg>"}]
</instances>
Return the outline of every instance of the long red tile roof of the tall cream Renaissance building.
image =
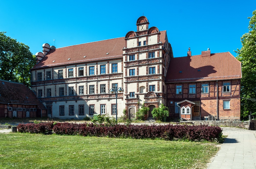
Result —
<instances>
[{"instance_id":1,"label":"long red tile roof of the tall cream Renaissance building","mask_svg":"<svg viewBox=\"0 0 256 169\"><path fill-rule=\"evenodd\" d=\"M160 33L160 40L164 43L166 31L160 31ZM125 40L124 37L121 37L52 49L32 69L122 58L124 47ZM84 56L86 57L84 58ZM69 58L70 60L68 60Z\"/></svg>"}]
</instances>

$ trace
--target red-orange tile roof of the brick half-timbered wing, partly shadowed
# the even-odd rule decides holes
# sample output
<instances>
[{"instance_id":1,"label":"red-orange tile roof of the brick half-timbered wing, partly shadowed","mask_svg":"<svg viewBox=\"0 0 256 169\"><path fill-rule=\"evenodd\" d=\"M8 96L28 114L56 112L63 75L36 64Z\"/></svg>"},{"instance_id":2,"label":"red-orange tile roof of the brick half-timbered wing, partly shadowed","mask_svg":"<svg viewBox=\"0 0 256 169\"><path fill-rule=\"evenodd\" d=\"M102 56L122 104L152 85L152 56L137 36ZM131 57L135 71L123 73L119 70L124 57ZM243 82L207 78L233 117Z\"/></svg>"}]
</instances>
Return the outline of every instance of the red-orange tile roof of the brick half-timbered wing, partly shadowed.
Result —
<instances>
[{"instance_id":1,"label":"red-orange tile roof of the brick half-timbered wing, partly shadowed","mask_svg":"<svg viewBox=\"0 0 256 169\"><path fill-rule=\"evenodd\" d=\"M198 71L200 70L200 71ZM182 73L180 73L182 71ZM241 62L230 52L210 56L171 58L166 82L208 81L242 78Z\"/></svg>"}]
</instances>

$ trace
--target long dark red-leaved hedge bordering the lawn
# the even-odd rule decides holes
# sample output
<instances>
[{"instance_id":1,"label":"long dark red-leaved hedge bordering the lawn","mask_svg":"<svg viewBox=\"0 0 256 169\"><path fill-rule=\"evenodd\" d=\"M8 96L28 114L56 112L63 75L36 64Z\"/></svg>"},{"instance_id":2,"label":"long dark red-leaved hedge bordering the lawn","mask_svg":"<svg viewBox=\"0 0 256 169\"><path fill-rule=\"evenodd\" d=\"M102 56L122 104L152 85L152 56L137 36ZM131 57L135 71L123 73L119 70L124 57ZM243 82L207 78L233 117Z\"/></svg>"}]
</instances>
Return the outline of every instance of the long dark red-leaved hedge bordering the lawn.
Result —
<instances>
[{"instance_id":1,"label":"long dark red-leaved hedge bordering the lawn","mask_svg":"<svg viewBox=\"0 0 256 169\"><path fill-rule=\"evenodd\" d=\"M93 123L29 123L19 124L19 132L44 133L54 131L59 135L80 135L97 137L116 138L162 138L165 140L188 139L188 140L208 140L214 141L222 135L222 130L218 126L208 125L122 125L106 126L104 124L95 125Z\"/></svg>"}]
</instances>

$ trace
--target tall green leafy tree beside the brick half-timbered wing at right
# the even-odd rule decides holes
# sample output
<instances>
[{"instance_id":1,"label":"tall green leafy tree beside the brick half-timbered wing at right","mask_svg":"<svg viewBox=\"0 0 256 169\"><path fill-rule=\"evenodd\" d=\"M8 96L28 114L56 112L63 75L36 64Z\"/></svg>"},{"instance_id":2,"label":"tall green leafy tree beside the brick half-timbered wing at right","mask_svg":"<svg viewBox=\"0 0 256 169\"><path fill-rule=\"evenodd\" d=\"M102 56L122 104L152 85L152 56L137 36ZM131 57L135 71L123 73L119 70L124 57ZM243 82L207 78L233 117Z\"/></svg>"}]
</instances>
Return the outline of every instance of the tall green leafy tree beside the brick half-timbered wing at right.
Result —
<instances>
[{"instance_id":1,"label":"tall green leafy tree beside the brick half-timbered wing at right","mask_svg":"<svg viewBox=\"0 0 256 169\"><path fill-rule=\"evenodd\" d=\"M235 51L242 62L241 116L256 115L256 103L244 98L256 98L256 10L248 17L249 32L241 37L242 48ZM244 97L244 98L243 98Z\"/></svg>"}]
</instances>

